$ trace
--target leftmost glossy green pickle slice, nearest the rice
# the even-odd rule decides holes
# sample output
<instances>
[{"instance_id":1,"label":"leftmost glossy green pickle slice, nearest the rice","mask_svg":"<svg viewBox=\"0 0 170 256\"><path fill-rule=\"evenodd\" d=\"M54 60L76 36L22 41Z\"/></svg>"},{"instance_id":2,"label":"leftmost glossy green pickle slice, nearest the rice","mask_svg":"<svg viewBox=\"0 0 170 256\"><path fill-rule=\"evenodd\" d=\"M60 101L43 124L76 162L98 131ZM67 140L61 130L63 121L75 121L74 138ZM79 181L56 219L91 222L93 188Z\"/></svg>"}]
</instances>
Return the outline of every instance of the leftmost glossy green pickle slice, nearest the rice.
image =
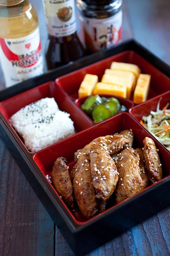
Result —
<instances>
[{"instance_id":1,"label":"leftmost glossy green pickle slice, nearest the rice","mask_svg":"<svg viewBox=\"0 0 170 256\"><path fill-rule=\"evenodd\" d=\"M84 110L88 115L91 115L92 110L95 106L102 103L101 97L97 95L89 96L84 103L81 105L82 110Z\"/></svg>"}]
</instances>

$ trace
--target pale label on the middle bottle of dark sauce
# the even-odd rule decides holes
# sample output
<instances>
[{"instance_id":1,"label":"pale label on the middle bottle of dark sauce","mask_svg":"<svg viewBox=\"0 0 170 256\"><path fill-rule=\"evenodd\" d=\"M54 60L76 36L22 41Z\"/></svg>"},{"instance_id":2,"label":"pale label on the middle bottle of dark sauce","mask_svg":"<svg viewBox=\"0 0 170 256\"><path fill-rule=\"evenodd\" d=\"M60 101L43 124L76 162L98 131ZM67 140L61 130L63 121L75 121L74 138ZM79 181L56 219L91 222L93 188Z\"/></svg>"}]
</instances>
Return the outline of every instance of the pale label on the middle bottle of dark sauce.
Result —
<instances>
[{"instance_id":1,"label":"pale label on the middle bottle of dark sauce","mask_svg":"<svg viewBox=\"0 0 170 256\"><path fill-rule=\"evenodd\" d=\"M77 30L74 0L43 0L48 34L66 37Z\"/></svg>"}]
</instances>

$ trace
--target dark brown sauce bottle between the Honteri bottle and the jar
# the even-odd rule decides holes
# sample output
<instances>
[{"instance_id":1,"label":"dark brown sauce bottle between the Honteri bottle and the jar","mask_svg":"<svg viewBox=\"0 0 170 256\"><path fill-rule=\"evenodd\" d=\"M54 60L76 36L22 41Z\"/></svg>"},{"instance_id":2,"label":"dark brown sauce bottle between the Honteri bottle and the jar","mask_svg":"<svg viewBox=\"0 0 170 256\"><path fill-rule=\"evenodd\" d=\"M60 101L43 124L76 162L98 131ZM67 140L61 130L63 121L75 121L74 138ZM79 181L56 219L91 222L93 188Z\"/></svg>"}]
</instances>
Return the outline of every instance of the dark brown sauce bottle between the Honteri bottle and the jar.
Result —
<instances>
[{"instance_id":1,"label":"dark brown sauce bottle between the Honteri bottle and the jar","mask_svg":"<svg viewBox=\"0 0 170 256\"><path fill-rule=\"evenodd\" d=\"M46 45L47 69L72 63L84 56L84 48L77 34L74 0L43 0L48 40Z\"/></svg>"}]
</instances>

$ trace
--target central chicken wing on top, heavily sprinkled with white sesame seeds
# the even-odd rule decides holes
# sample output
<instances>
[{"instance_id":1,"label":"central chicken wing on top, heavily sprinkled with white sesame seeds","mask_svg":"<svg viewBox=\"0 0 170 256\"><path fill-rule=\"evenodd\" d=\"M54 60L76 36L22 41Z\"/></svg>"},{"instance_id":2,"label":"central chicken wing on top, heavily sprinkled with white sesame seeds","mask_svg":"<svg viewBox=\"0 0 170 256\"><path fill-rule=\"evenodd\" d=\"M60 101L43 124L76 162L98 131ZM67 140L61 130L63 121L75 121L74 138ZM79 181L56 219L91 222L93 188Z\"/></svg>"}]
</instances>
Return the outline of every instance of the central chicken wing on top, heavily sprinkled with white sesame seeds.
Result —
<instances>
[{"instance_id":1,"label":"central chicken wing on top, heavily sprinkled with white sesame seeds","mask_svg":"<svg viewBox=\"0 0 170 256\"><path fill-rule=\"evenodd\" d=\"M89 153L92 182L96 198L107 201L113 194L119 179L114 160L105 150L103 144L94 144Z\"/></svg>"}]
</instances>

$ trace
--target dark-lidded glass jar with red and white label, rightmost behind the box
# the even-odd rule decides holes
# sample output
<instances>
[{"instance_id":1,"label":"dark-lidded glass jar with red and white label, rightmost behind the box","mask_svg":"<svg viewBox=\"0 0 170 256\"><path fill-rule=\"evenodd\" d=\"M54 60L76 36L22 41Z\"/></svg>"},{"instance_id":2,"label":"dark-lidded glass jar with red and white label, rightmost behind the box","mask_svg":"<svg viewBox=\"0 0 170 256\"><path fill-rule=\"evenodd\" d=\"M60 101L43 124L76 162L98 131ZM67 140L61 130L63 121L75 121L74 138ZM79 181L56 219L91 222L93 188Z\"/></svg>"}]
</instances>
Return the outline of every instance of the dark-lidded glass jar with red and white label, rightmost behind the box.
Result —
<instances>
[{"instance_id":1,"label":"dark-lidded glass jar with red and white label, rightmost behind the box","mask_svg":"<svg viewBox=\"0 0 170 256\"><path fill-rule=\"evenodd\" d=\"M122 0L77 0L87 54L116 45L121 39Z\"/></svg>"}]
</instances>

